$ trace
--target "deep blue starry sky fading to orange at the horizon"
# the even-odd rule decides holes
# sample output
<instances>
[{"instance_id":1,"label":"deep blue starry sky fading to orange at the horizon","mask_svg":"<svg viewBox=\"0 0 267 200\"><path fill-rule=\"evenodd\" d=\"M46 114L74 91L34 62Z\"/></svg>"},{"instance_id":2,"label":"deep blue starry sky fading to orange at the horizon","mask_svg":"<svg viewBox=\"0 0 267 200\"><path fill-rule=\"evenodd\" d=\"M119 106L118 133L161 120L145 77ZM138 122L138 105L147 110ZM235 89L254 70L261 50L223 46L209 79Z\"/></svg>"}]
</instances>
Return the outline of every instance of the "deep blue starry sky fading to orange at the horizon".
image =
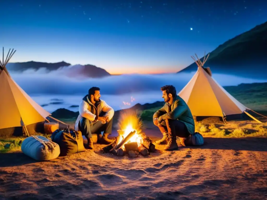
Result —
<instances>
[{"instance_id":1,"label":"deep blue starry sky fading to orange at the horizon","mask_svg":"<svg viewBox=\"0 0 267 200\"><path fill-rule=\"evenodd\" d=\"M173 73L267 21L266 0L0 1L10 62L92 64L111 74ZM3 9L4 8L4 9Z\"/></svg>"}]
</instances>

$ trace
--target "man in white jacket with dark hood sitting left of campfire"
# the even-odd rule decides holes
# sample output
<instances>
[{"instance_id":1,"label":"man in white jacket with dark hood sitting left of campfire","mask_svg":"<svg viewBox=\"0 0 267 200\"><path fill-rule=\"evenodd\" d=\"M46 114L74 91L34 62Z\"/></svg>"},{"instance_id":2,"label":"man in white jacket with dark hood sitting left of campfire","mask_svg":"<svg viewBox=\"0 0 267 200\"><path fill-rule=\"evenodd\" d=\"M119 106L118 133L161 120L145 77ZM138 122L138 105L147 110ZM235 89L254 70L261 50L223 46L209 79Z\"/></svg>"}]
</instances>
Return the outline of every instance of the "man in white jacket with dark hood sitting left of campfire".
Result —
<instances>
[{"instance_id":1,"label":"man in white jacket with dark hood sitting left of campfire","mask_svg":"<svg viewBox=\"0 0 267 200\"><path fill-rule=\"evenodd\" d=\"M100 88L91 87L79 106L79 116L75 122L75 130L80 130L88 140L88 148L93 149L92 133L96 133L98 141L109 144L108 135L112 130L114 110L105 101L100 100ZM104 114L105 112L105 114ZM104 114L104 116L103 116ZM101 116L102 115L102 116ZM101 131L104 131L101 137Z\"/></svg>"}]
</instances>

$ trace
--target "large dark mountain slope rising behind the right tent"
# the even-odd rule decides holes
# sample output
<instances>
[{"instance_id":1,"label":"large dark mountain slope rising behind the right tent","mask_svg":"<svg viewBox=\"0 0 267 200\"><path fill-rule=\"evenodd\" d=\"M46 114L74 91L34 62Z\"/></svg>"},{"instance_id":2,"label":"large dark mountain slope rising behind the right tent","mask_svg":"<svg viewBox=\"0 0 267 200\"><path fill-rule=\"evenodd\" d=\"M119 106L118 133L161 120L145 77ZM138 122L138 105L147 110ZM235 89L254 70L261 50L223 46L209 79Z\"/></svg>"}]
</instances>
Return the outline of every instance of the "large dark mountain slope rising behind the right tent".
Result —
<instances>
[{"instance_id":1,"label":"large dark mountain slope rising behind the right tent","mask_svg":"<svg viewBox=\"0 0 267 200\"><path fill-rule=\"evenodd\" d=\"M204 66L210 67L212 73L267 78L266 47L267 22L218 46L214 51L210 52L210 56ZM203 60L203 57L201 60ZM177 73L196 70L197 65L192 63Z\"/></svg>"}]
</instances>

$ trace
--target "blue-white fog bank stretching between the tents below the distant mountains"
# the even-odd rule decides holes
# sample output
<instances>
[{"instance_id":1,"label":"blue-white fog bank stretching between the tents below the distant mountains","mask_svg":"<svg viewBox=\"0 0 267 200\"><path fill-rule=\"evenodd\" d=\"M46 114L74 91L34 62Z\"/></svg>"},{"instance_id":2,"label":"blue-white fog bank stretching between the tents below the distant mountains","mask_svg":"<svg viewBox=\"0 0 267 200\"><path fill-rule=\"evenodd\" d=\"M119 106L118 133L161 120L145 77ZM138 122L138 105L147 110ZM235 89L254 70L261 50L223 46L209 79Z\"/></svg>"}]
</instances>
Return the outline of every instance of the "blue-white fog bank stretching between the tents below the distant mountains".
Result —
<instances>
[{"instance_id":1,"label":"blue-white fog bank stretching between the tents below the distant mountains","mask_svg":"<svg viewBox=\"0 0 267 200\"><path fill-rule=\"evenodd\" d=\"M65 68L65 67L64 67ZM194 73L180 74L130 74L112 75L104 78L70 78L64 75L64 68L57 71L26 70L23 73L10 74L15 82L29 95L35 94L87 94L92 86L100 87L101 94L131 94L139 92L159 91L163 85L174 85L179 92L193 77ZM266 82L233 75L213 74L222 86L238 85L240 83Z\"/></svg>"}]
</instances>

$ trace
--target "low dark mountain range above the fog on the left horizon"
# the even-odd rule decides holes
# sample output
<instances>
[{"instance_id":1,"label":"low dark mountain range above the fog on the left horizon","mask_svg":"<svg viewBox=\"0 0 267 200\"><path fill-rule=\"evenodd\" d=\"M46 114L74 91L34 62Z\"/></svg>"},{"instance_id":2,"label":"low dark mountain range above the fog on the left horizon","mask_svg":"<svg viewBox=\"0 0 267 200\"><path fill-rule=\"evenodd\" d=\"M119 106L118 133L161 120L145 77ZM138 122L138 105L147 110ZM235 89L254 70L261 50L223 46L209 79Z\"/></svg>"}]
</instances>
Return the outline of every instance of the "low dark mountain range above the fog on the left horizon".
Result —
<instances>
[{"instance_id":1,"label":"low dark mountain range above the fog on the left horizon","mask_svg":"<svg viewBox=\"0 0 267 200\"><path fill-rule=\"evenodd\" d=\"M91 78L100 78L105 76L110 76L106 70L96 67L94 65L73 65L70 66L70 63L64 61L58 63L46 63L46 62L16 62L8 63L7 69L10 71L25 71L28 69L39 70L45 68L48 71L54 71L66 67L63 71L66 75L70 77L91 77Z\"/></svg>"}]
</instances>

